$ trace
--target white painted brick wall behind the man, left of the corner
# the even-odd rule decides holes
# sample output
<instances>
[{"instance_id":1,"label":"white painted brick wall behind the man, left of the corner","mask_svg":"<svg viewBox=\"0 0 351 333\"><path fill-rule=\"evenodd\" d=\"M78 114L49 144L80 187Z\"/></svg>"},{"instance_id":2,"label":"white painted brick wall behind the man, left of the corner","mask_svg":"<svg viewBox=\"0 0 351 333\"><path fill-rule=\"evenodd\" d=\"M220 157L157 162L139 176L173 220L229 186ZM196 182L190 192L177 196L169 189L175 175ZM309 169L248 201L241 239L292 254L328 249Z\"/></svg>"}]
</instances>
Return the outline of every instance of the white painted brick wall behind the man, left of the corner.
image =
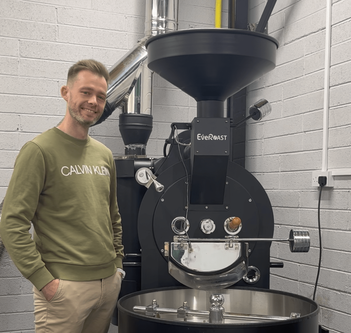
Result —
<instances>
[{"instance_id":1,"label":"white painted brick wall behind the man, left of the corner","mask_svg":"<svg viewBox=\"0 0 351 333\"><path fill-rule=\"evenodd\" d=\"M223 1L227 25L228 2ZM179 0L179 29L213 27L213 0ZM144 35L143 0L2 0L0 6L0 201L25 142L57 125L68 68L94 58L112 66ZM150 156L163 155L170 123L191 120L196 103L154 77L154 128ZM118 112L90 134L113 154L124 154ZM32 285L6 253L0 262L0 332L34 333ZM109 332L115 332L111 327Z\"/></svg>"}]
</instances>

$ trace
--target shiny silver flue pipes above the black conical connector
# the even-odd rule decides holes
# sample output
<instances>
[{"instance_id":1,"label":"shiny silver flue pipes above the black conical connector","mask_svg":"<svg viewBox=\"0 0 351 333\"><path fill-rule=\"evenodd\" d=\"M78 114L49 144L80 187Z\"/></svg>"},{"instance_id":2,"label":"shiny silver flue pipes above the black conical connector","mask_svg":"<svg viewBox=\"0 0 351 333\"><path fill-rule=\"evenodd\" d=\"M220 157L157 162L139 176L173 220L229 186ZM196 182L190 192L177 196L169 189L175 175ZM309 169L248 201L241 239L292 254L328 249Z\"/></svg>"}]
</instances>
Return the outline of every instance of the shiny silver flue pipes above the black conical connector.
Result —
<instances>
[{"instance_id":1,"label":"shiny silver flue pipes above the black conical connector","mask_svg":"<svg viewBox=\"0 0 351 333\"><path fill-rule=\"evenodd\" d=\"M151 115L152 72L147 68L145 42L151 36L177 30L177 27L178 0L146 0L145 37L109 70L107 101L113 110ZM138 89L132 93L135 86Z\"/></svg>"}]
</instances>

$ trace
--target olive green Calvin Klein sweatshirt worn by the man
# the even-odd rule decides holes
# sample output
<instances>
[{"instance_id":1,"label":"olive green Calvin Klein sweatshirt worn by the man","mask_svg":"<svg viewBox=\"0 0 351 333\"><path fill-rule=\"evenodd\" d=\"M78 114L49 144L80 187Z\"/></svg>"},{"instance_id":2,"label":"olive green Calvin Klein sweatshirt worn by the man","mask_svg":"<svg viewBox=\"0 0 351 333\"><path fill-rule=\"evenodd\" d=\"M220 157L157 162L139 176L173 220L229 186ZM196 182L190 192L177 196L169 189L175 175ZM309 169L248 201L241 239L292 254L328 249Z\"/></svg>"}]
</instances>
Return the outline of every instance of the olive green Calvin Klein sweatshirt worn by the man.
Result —
<instances>
[{"instance_id":1,"label":"olive green Calvin Klein sweatshirt worn by the man","mask_svg":"<svg viewBox=\"0 0 351 333\"><path fill-rule=\"evenodd\" d=\"M0 235L15 265L39 290L53 279L97 280L122 268L111 151L58 128L27 142L6 192Z\"/></svg>"}]
</instances>

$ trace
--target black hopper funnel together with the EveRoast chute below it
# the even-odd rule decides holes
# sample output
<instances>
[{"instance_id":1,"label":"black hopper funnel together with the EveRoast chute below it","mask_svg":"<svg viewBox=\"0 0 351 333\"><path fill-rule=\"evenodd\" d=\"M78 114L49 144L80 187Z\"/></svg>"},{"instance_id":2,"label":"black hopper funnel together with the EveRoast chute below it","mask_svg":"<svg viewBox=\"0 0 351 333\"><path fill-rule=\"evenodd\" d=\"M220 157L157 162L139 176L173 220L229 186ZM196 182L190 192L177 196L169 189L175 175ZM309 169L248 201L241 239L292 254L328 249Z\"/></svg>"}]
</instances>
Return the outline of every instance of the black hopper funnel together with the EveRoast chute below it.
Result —
<instances>
[{"instance_id":1,"label":"black hopper funnel together with the EveRoast chute below it","mask_svg":"<svg viewBox=\"0 0 351 333\"><path fill-rule=\"evenodd\" d=\"M276 66L278 41L246 30L192 29L157 35L146 47L148 67L197 101L190 204L226 210L230 124L224 101Z\"/></svg>"}]
</instances>

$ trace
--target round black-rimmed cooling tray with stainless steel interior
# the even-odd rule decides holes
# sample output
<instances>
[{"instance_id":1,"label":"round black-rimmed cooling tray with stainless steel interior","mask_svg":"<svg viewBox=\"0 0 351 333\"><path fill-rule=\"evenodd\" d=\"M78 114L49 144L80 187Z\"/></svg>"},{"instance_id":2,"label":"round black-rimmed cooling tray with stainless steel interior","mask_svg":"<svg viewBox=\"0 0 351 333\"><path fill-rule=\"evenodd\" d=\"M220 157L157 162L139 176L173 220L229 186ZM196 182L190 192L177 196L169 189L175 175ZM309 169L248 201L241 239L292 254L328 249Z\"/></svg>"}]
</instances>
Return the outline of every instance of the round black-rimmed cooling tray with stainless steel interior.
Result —
<instances>
[{"instance_id":1,"label":"round black-rimmed cooling tray with stainless steel interior","mask_svg":"<svg viewBox=\"0 0 351 333\"><path fill-rule=\"evenodd\" d=\"M159 318L133 311L134 306L148 306L154 299L161 308L179 308L187 301L192 310L208 311L213 293L224 296L226 313L288 317L285 320L225 319L212 324L203 316L177 318L177 314L160 314ZM265 289L221 289L213 291L167 288L133 293L118 302L119 332L284 332L317 333L319 306L303 296ZM290 318L299 313L299 318ZM233 331L235 328L235 331ZM189 330L191 329L191 330Z\"/></svg>"}]
</instances>

